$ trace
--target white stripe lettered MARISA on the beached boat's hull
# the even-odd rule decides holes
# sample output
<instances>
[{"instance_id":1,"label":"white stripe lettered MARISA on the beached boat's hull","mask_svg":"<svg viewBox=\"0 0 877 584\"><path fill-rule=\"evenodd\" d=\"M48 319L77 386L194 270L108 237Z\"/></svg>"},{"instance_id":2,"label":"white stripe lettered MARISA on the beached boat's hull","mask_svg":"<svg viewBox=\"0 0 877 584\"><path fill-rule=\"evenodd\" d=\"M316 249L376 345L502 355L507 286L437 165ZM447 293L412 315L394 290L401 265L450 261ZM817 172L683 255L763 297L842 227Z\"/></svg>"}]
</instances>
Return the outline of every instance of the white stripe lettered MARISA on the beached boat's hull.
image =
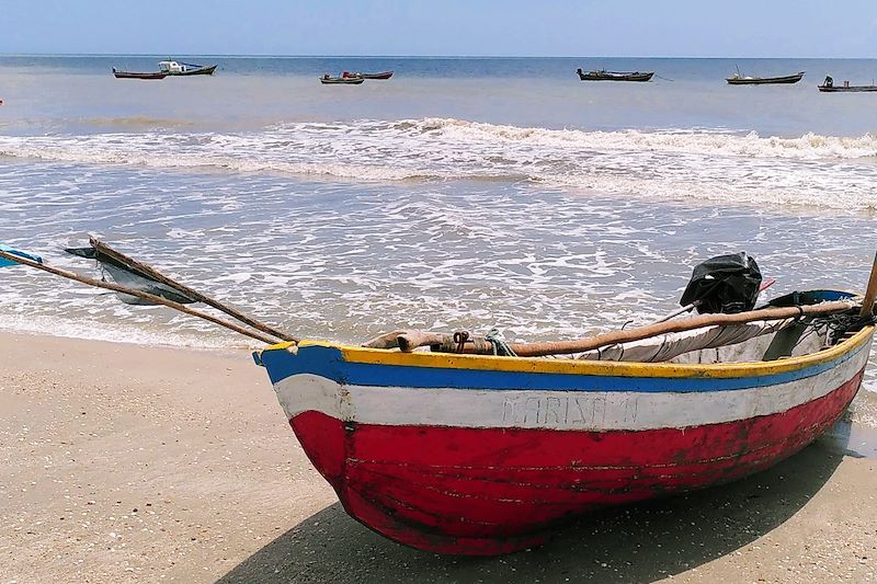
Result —
<instances>
[{"instance_id":1,"label":"white stripe lettered MARISA on the beached boat's hull","mask_svg":"<svg viewBox=\"0 0 877 584\"><path fill-rule=\"evenodd\" d=\"M852 379L870 343L836 367L775 386L704 392L482 390L342 386L312 374L274 385L288 419L319 411L344 422L384 425L520 427L558 431L658 430L785 412ZM705 383L709 380L706 379Z\"/></svg>"}]
</instances>

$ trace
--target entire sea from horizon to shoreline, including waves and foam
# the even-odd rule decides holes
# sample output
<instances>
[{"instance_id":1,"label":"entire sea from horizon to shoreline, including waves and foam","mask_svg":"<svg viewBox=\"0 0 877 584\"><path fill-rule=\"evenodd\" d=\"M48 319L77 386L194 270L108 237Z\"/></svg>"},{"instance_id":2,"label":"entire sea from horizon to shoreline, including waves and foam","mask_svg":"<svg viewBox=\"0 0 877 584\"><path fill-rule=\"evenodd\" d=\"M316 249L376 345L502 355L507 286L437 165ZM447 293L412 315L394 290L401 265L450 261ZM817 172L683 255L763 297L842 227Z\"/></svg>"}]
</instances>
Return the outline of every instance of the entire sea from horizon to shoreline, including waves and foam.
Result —
<instances>
[{"instance_id":1,"label":"entire sea from horizon to shoreline, including waves and foam","mask_svg":"<svg viewBox=\"0 0 877 584\"><path fill-rule=\"evenodd\" d=\"M874 60L0 57L0 241L94 275L94 233L305 337L497 327L569 339L676 306L745 250L767 296L864 288L877 250ZM654 70L581 82L577 68ZM795 85L729 87L807 71ZM395 71L321 85L323 72ZM202 347L250 341L22 268L0 328ZM875 367L872 367L872 370ZM877 389L875 377L866 382Z\"/></svg>"}]
</instances>

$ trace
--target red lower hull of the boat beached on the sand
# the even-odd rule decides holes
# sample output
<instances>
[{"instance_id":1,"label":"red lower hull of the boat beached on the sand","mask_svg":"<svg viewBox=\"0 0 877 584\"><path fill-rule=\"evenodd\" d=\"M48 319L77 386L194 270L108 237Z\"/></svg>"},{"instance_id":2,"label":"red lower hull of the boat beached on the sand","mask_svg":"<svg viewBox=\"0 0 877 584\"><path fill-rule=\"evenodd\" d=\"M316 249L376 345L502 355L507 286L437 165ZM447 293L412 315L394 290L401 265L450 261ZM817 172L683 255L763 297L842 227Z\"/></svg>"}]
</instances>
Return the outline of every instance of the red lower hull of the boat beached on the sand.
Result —
<instances>
[{"instance_id":1,"label":"red lower hull of the boat beached on the sand","mask_svg":"<svg viewBox=\"0 0 877 584\"><path fill-rule=\"evenodd\" d=\"M366 526L419 549L498 554L538 545L547 528L583 512L765 469L833 424L862 375L782 413L684 428L380 425L317 411L291 424Z\"/></svg>"}]
</instances>

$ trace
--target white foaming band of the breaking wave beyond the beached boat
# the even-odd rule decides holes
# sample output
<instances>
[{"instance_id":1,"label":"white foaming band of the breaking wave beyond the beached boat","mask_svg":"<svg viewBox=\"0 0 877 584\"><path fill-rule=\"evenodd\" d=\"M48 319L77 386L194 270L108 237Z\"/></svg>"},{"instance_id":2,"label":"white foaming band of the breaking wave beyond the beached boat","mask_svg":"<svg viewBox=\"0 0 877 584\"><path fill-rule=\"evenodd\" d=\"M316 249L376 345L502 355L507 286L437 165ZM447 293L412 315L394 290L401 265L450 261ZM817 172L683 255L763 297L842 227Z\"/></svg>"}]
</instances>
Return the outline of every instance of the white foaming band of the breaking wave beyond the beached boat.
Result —
<instances>
[{"instance_id":1,"label":"white foaming band of the breaking wave beyond the beached boat","mask_svg":"<svg viewBox=\"0 0 877 584\"><path fill-rule=\"evenodd\" d=\"M870 210L877 138L721 129L588 131L453 118L301 122L250 133L0 137L0 157L365 182L531 181L662 199Z\"/></svg>"}]
</instances>

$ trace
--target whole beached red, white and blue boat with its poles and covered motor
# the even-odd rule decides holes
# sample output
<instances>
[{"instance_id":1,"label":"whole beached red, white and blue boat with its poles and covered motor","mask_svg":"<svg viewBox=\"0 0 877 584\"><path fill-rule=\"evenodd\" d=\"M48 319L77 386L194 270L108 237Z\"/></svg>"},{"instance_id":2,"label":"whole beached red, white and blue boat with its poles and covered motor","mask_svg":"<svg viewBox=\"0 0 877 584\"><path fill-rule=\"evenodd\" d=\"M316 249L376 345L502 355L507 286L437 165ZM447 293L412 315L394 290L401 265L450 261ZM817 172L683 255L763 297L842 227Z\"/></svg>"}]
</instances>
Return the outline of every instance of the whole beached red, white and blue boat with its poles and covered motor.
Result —
<instances>
[{"instance_id":1,"label":"whole beached red, white and blue boat with its poles and covered motor","mask_svg":"<svg viewBox=\"0 0 877 584\"><path fill-rule=\"evenodd\" d=\"M740 253L696 266L683 308L639 329L547 343L509 343L493 331L395 331L350 346L276 331L91 244L77 255L127 266L151 293L18 251L0 249L0 259L243 331L174 306L152 286L161 283L259 331L243 334L285 340L253 358L344 509L390 539L441 553L533 547L579 514L775 465L841 416L875 330L877 256L864 297L795 291L753 310L766 285ZM699 316L673 320L695 307Z\"/></svg>"}]
</instances>

